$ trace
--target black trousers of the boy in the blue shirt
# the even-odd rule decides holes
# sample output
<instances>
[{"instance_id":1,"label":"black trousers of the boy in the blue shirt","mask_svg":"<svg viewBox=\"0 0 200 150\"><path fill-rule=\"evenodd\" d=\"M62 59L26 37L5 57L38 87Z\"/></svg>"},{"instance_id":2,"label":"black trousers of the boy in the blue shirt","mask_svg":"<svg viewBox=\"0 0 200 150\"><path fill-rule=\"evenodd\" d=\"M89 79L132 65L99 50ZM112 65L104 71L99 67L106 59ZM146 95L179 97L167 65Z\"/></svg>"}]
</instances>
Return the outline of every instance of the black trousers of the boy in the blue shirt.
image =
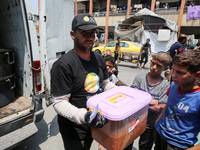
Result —
<instances>
[{"instance_id":1,"label":"black trousers of the boy in the blue shirt","mask_svg":"<svg viewBox=\"0 0 200 150\"><path fill-rule=\"evenodd\" d=\"M157 131L155 131L155 147L154 150L184 150L182 148L176 147L167 143L161 138Z\"/></svg>"}]
</instances>

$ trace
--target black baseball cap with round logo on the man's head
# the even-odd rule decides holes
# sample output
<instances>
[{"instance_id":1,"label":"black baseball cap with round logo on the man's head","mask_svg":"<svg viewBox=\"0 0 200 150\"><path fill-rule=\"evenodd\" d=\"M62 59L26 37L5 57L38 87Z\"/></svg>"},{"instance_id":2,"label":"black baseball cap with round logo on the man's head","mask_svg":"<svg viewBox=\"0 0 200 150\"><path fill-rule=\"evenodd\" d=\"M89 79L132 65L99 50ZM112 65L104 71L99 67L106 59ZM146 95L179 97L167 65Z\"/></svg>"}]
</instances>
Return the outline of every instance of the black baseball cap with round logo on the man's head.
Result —
<instances>
[{"instance_id":1,"label":"black baseball cap with round logo on the man's head","mask_svg":"<svg viewBox=\"0 0 200 150\"><path fill-rule=\"evenodd\" d=\"M81 13L74 17L72 21L72 30L75 28L79 28L81 30L103 30L101 27L97 26L96 21L89 13Z\"/></svg>"}]
</instances>

